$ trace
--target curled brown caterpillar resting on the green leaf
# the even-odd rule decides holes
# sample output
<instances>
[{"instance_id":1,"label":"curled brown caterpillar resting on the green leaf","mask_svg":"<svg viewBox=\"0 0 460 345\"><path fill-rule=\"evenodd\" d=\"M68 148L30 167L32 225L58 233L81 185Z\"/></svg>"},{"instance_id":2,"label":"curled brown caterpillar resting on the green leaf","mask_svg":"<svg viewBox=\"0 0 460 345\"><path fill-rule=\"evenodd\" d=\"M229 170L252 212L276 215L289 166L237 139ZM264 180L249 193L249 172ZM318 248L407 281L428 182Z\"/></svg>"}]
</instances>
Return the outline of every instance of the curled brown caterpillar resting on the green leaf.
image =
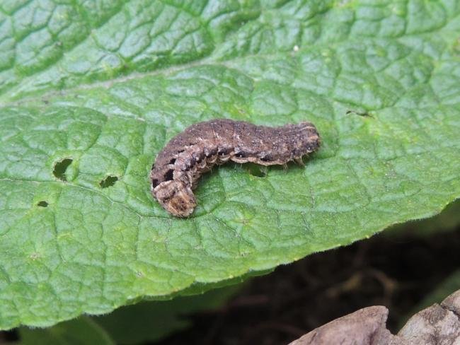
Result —
<instances>
[{"instance_id":1,"label":"curled brown caterpillar resting on the green leaf","mask_svg":"<svg viewBox=\"0 0 460 345\"><path fill-rule=\"evenodd\" d=\"M192 189L203 172L228 160L261 165L285 164L315 151L320 137L314 124L256 126L231 119L192 124L166 144L150 172L151 193L166 211L186 217L197 206Z\"/></svg>"}]
</instances>

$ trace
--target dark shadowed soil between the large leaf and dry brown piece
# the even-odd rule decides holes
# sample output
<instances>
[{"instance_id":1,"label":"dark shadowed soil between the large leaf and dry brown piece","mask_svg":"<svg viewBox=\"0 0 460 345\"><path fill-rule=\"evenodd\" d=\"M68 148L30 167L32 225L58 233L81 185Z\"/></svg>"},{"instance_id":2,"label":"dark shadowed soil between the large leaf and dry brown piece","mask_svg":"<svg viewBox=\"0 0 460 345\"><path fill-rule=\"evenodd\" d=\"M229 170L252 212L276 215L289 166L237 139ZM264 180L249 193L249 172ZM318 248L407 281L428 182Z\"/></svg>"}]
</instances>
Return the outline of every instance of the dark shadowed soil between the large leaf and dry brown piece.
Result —
<instances>
[{"instance_id":1,"label":"dark shadowed soil between the large leaf and dry brown piece","mask_svg":"<svg viewBox=\"0 0 460 345\"><path fill-rule=\"evenodd\" d=\"M253 279L224 308L192 316L192 329L160 344L287 344L369 305L389 308L387 326L398 332L422 298L459 268L459 248L457 230L430 238L376 235L317 253Z\"/></svg>"}]
</instances>

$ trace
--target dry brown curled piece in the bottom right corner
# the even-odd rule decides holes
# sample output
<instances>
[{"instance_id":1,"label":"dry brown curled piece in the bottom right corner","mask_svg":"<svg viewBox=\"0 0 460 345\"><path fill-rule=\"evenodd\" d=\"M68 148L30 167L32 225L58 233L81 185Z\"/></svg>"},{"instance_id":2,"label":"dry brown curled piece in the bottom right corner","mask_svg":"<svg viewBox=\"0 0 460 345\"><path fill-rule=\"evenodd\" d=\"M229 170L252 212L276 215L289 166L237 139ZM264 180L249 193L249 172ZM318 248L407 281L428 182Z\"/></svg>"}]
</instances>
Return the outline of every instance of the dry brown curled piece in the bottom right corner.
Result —
<instances>
[{"instance_id":1,"label":"dry brown curled piece in the bottom right corner","mask_svg":"<svg viewBox=\"0 0 460 345\"><path fill-rule=\"evenodd\" d=\"M393 335L386 329L388 310L382 306L363 308L333 320L290 345L460 345L460 290L408 320Z\"/></svg>"}]
</instances>

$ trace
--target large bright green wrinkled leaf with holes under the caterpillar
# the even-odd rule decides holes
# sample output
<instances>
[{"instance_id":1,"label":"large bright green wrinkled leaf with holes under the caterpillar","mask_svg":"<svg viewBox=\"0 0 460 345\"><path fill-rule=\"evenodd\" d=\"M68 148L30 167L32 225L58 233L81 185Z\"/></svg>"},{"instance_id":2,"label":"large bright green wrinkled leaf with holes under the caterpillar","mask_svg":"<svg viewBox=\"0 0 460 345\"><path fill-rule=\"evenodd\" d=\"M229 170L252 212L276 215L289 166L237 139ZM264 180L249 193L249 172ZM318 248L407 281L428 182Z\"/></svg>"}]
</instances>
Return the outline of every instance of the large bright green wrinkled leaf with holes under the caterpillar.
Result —
<instances>
[{"instance_id":1,"label":"large bright green wrinkled leaf with holes under the caterpillar","mask_svg":"<svg viewBox=\"0 0 460 345\"><path fill-rule=\"evenodd\" d=\"M456 1L3 1L0 328L171 298L460 196ZM305 168L214 169L188 219L156 153L216 117L310 120Z\"/></svg>"}]
</instances>

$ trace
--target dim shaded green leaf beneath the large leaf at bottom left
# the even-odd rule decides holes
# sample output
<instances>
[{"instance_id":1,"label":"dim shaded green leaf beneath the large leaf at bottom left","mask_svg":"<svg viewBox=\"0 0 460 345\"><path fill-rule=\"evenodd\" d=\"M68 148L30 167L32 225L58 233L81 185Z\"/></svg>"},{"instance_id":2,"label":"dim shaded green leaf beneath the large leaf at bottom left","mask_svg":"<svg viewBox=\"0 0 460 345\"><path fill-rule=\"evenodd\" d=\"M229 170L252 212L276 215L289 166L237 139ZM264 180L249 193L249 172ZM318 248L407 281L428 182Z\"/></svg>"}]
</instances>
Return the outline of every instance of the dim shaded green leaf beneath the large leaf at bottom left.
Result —
<instances>
[{"instance_id":1,"label":"dim shaded green leaf beneath the large leaf at bottom left","mask_svg":"<svg viewBox=\"0 0 460 345\"><path fill-rule=\"evenodd\" d=\"M244 284L195 296L127 305L100 317L81 316L45 329L21 327L21 344L144 344L190 327L188 315L213 310Z\"/></svg>"}]
</instances>

